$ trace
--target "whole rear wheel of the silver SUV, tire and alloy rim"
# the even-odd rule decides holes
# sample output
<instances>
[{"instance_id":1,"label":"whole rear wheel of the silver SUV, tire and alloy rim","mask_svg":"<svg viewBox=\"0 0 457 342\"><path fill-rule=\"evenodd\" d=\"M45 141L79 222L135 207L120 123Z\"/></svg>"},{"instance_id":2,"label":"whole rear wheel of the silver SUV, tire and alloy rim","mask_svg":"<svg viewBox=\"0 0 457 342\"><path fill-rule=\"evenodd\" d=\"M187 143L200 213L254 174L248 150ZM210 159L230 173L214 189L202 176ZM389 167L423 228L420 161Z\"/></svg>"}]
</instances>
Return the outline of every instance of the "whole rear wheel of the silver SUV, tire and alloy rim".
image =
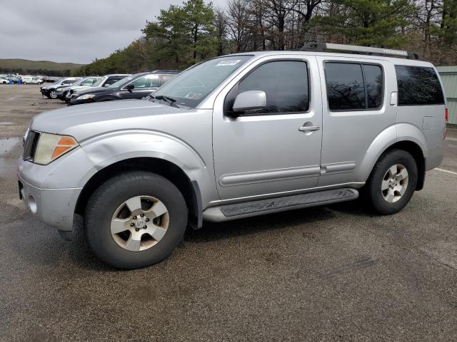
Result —
<instances>
[{"instance_id":1,"label":"whole rear wheel of the silver SUV, tire and alloy rim","mask_svg":"<svg viewBox=\"0 0 457 342\"><path fill-rule=\"evenodd\" d=\"M380 214L395 214L408 204L417 185L417 165L405 150L390 150L376 162L366 195Z\"/></svg>"}]
</instances>

